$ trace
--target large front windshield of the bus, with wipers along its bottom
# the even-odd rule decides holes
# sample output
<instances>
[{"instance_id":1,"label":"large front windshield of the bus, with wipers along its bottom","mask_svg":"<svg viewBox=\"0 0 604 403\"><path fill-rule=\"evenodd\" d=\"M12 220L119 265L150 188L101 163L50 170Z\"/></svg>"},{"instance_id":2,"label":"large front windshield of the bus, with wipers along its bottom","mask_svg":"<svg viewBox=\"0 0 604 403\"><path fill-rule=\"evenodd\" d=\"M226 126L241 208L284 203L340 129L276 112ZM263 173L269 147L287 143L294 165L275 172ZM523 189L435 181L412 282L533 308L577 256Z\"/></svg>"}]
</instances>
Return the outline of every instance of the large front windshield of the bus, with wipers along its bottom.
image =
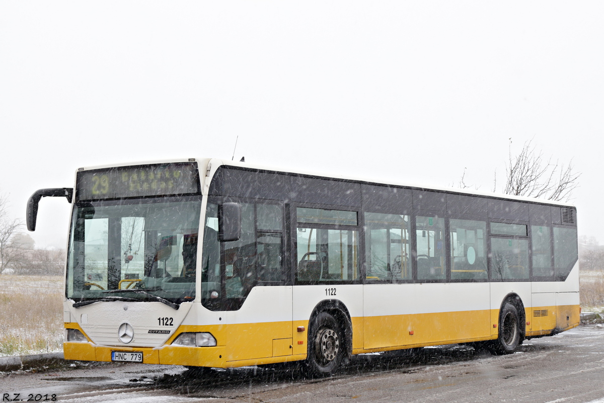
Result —
<instances>
[{"instance_id":1,"label":"large front windshield of the bus, with wipers along its bottom","mask_svg":"<svg viewBox=\"0 0 604 403\"><path fill-rule=\"evenodd\" d=\"M195 297L199 196L79 202L74 207L66 295L161 301Z\"/></svg>"}]
</instances>

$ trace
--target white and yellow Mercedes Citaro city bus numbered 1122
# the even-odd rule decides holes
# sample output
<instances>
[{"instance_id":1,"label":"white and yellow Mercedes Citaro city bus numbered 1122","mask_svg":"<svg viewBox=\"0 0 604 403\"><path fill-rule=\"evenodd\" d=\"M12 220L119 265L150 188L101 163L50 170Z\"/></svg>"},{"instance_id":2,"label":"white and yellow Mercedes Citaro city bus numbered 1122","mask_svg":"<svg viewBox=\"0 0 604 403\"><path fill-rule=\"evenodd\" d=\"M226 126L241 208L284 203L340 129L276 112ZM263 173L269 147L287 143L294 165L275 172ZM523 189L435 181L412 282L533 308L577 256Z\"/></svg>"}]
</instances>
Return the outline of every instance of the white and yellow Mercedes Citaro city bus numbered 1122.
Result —
<instances>
[{"instance_id":1,"label":"white and yellow Mercedes Citaro city bus numbered 1122","mask_svg":"<svg viewBox=\"0 0 604 403\"><path fill-rule=\"evenodd\" d=\"M188 367L451 343L511 353L579 324L576 209L222 160L80 168L66 359Z\"/></svg>"}]
</instances>

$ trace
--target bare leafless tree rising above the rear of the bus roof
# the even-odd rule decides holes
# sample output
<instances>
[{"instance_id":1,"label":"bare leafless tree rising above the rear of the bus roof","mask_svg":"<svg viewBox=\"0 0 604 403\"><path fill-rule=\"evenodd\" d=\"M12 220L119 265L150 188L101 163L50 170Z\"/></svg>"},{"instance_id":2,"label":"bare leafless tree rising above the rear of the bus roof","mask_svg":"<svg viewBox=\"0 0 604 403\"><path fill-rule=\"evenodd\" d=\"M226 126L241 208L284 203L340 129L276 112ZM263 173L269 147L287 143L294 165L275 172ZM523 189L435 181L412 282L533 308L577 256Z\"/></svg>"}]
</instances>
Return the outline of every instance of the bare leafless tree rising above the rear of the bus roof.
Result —
<instances>
[{"instance_id":1,"label":"bare leafless tree rising above the rear of the bus roof","mask_svg":"<svg viewBox=\"0 0 604 403\"><path fill-rule=\"evenodd\" d=\"M506 164L506 184L503 193L554 201L568 201L579 186L580 173L574 172L572 160L567 166L545 160L543 152L532 146L532 140L524 143L518 155L512 155L510 138L509 162Z\"/></svg>"}]
</instances>

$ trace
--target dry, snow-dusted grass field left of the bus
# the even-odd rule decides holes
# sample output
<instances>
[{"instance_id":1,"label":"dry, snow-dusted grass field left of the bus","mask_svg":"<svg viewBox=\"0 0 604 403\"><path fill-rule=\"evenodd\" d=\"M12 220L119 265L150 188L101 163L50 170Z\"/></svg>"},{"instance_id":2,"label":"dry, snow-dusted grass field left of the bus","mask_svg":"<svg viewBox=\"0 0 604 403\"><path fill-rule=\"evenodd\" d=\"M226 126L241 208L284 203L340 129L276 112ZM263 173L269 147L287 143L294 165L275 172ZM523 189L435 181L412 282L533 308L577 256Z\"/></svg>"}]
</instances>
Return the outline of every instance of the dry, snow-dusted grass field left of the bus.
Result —
<instances>
[{"instance_id":1,"label":"dry, snow-dusted grass field left of the bus","mask_svg":"<svg viewBox=\"0 0 604 403\"><path fill-rule=\"evenodd\" d=\"M0 276L0 356L63 349L63 279Z\"/></svg>"}]
</instances>

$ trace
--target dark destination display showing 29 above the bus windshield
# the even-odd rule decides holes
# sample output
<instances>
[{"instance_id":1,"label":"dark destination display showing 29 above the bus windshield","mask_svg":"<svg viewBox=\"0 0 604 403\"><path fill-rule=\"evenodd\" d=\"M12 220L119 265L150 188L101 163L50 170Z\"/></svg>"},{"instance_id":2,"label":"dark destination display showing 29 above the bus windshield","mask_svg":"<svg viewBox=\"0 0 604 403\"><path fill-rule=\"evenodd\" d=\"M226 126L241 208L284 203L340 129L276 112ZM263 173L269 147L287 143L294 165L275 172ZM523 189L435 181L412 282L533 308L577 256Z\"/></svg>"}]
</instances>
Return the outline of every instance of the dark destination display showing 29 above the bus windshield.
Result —
<instances>
[{"instance_id":1,"label":"dark destination display showing 29 above the bus windshield","mask_svg":"<svg viewBox=\"0 0 604 403\"><path fill-rule=\"evenodd\" d=\"M196 163L149 164L77 173L78 200L184 195L199 192Z\"/></svg>"}]
</instances>

